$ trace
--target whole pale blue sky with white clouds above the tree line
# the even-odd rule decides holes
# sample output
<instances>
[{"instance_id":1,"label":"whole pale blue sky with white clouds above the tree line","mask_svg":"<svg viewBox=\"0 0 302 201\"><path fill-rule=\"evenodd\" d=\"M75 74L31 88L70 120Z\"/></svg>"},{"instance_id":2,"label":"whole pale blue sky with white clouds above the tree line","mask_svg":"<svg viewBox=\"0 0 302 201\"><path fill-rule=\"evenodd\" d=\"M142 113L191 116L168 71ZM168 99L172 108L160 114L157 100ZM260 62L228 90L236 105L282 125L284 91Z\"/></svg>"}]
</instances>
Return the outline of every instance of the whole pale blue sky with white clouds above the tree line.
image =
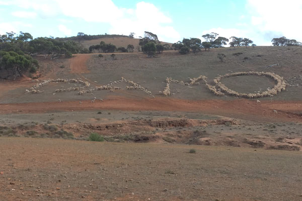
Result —
<instances>
[{"instance_id":1,"label":"whole pale blue sky with white clouds above the tree line","mask_svg":"<svg viewBox=\"0 0 302 201\"><path fill-rule=\"evenodd\" d=\"M0 35L69 37L144 31L177 42L215 32L272 45L285 36L302 42L301 0L0 0Z\"/></svg>"}]
</instances>

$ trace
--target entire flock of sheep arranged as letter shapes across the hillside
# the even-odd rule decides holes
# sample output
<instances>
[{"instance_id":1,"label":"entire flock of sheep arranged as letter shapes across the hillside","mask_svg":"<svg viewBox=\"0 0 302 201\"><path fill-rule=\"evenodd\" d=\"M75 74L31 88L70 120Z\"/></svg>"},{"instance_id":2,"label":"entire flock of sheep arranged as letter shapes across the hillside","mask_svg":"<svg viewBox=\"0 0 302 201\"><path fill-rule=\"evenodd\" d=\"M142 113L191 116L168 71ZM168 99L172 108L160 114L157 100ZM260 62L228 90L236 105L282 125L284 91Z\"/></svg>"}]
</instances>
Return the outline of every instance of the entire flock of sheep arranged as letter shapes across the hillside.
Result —
<instances>
[{"instance_id":1,"label":"entire flock of sheep arranged as letter shapes across the hillside","mask_svg":"<svg viewBox=\"0 0 302 201\"><path fill-rule=\"evenodd\" d=\"M222 84L220 82L221 79L223 79L223 78L231 77L231 76L241 76L241 75L266 76L266 77L273 78L277 82L277 84L272 89L268 88L268 90L261 92L261 93L260 92L258 92L258 93L239 93L237 91L231 90L230 88L226 87L224 84ZM163 91L159 91L159 94L164 95L164 96L172 95L171 90L170 90L171 82L185 85L185 86L190 86L190 85L199 85L200 84L199 80L202 80L205 83L205 86L211 92L213 92L215 95L222 96L222 95L224 95L224 93L226 93L229 95L233 95L233 96L237 96L237 97L245 97L245 98L260 98L260 97L264 97L264 96L276 95L277 92L281 92L282 90L285 90L285 86L286 86L286 83L285 83L283 77L281 77L273 72L250 71L250 72L226 73L225 75L219 75L213 79L213 82L215 83L215 85L208 84L207 77L204 75L200 75L197 78L189 78L189 80L190 80L189 82L184 82L184 81L178 81L178 80L172 79L171 77L167 77L166 78L166 87L164 88ZM91 89L87 89L90 86L90 83L88 81L83 81L81 79L46 79L46 80L43 80L41 83L37 83L33 87L26 89L25 92L26 93L42 93L44 91L43 90L41 91L38 88L40 88L41 86L44 86L45 84L48 84L50 82L79 83L82 85L79 87L69 87L67 89L63 89L63 86L61 86L60 89L55 89L55 92L79 91L78 92L79 95L84 95L85 93L93 94L93 91L96 91L96 90L110 90L113 92L114 90L121 89L121 88L117 87L117 86L112 86L112 85L118 84L119 82L122 82L122 81L130 84L130 86L128 86L128 85L126 86L127 90L142 90L145 93L147 93L148 95L151 95L152 97L154 97L152 95L152 92L147 90L147 88L140 86L136 82L127 80L124 77L122 77L120 80L117 80L117 81L111 81L107 85L96 86ZM74 84L74 85L76 85L76 84ZM177 92L180 92L179 89L177 89ZM53 93L53 94L55 94L55 93Z\"/></svg>"}]
</instances>

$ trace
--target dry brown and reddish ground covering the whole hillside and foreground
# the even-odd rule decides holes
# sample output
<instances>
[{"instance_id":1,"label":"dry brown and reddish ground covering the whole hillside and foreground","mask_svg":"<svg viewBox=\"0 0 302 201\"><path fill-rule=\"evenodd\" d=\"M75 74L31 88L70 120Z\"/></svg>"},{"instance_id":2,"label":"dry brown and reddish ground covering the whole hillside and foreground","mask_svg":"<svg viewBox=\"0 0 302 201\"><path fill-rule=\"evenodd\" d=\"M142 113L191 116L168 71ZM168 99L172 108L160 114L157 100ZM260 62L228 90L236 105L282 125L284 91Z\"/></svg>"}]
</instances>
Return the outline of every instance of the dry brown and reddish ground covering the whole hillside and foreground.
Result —
<instances>
[{"instance_id":1,"label":"dry brown and reddish ground covering the whole hillside and foreground","mask_svg":"<svg viewBox=\"0 0 302 201\"><path fill-rule=\"evenodd\" d=\"M102 39L116 46L138 39ZM100 39L101 41L101 39ZM85 41L90 46L100 41ZM223 53L223 62L217 58ZM140 52L77 54L39 60L39 82L0 80L2 200L301 200L302 66L300 47L239 47L154 58ZM272 64L278 64L267 68ZM189 82L232 72L274 72L285 91L256 99L216 96ZM131 86L121 77L144 87ZM45 79L43 93L25 93ZM117 81L116 83L114 81ZM263 76L222 79L245 93L276 83ZM61 89L62 92L58 92ZM63 90L66 91L63 91ZM57 91L56 91L57 90ZM94 100L93 100L94 99ZM105 142L88 142L91 133ZM188 153L194 149L196 153Z\"/></svg>"}]
</instances>

